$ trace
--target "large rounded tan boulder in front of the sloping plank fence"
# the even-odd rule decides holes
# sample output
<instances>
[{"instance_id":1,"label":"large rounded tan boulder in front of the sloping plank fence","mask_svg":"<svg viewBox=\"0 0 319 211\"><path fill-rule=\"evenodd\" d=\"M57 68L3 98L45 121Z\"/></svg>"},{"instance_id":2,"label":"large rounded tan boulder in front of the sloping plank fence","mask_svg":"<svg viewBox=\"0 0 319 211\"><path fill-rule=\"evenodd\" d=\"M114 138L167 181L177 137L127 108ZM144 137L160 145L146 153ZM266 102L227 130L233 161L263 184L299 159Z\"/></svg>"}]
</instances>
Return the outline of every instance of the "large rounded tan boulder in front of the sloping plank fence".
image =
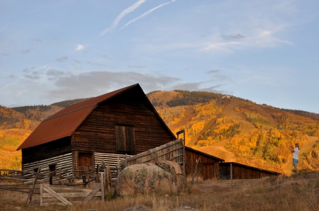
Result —
<instances>
[{"instance_id":1,"label":"large rounded tan boulder in front of the sloping plank fence","mask_svg":"<svg viewBox=\"0 0 319 211\"><path fill-rule=\"evenodd\" d=\"M172 161L135 164L121 171L116 193L122 196L137 193L179 193L185 179L179 164Z\"/></svg>"}]
</instances>

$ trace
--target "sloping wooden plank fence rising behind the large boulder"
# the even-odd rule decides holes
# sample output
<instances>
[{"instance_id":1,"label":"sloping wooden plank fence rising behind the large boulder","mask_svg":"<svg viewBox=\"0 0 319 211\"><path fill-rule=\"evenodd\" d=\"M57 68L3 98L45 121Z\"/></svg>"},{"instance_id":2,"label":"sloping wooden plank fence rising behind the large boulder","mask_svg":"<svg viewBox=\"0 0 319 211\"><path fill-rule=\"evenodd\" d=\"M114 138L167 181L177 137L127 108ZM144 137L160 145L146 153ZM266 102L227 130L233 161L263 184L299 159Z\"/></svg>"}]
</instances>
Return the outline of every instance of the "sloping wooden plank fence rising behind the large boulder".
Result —
<instances>
[{"instance_id":1,"label":"sloping wooden plank fence rising behind the large boulder","mask_svg":"<svg viewBox=\"0 0 319 211\"><path fill-rule=\"evenodd\" d=\"M118 169L123 169L133 164L145 164L157 161L174 161L181 165L185 172L185 146L183 141L177 139L146 152L126 157L119 162Z\"/></svg>"}]
</instances>

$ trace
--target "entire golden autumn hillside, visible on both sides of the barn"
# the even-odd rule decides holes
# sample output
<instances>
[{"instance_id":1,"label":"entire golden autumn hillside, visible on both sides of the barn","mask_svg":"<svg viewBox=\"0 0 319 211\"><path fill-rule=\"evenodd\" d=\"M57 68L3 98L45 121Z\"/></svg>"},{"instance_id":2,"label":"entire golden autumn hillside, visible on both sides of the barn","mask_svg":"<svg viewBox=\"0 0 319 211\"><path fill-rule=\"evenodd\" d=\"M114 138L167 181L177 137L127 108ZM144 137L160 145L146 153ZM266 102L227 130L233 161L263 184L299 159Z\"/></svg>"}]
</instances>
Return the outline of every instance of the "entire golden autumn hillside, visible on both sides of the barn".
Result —
<instances>
[{"instance_id":1,"label":"entire golden autumn hillside, visible on both sides of the barn","mask_svg":"<svg viewBox=\"0 0 319 211\"><path fill-rule=\"evenodd\" d=\"M186 130L189 147L225 161L290 174L289 146L298 142L301 144L300 169L319 170L318 114L201 91L152 91L147 97L174 133ZM0 160L13 152L18 154L13 149L42 120L64 106L83 100L12 109L0 107ZM16 156L13 166L19 162Z\"/></svg>"}]
</instances>

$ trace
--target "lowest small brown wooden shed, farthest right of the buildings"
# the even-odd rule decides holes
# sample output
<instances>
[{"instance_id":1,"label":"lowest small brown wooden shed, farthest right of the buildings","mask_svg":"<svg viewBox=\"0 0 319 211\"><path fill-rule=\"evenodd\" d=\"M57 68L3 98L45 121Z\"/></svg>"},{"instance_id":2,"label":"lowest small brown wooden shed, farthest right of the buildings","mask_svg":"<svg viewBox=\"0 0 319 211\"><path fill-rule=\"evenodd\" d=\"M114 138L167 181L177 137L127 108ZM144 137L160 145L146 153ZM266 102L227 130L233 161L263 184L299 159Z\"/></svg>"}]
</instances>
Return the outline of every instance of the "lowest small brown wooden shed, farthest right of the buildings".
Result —
<instances>
[{"instance_id":1,"label":"lowest small brown wooden shed, farthest right of the buildings","mask_svg":"<svg viewBox=\"0 0 319 211\"><path fill-rule=\"evenodd\" d=\"M275 171L259 169L256 167L246 166L244 164L238 164L235 162L224 162L220 163L219 165L220 178L224 180L230 179L230 172L232 172L233 179L263 178L267 176L279 176L281 174Z\"/></svg>"}]
</instances>

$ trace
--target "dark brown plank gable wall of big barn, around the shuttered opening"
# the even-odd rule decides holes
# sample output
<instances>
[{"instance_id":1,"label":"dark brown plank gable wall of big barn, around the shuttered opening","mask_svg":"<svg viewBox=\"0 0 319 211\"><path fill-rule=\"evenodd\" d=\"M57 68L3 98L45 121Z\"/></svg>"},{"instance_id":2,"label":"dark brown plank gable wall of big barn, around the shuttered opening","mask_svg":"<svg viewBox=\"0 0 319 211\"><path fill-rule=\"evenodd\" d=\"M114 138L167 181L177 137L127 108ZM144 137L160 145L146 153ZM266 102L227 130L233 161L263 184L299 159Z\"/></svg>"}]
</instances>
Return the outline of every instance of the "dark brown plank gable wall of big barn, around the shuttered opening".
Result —
<instances>
[{"instance_id":1,"label":"dark brown plank gable wall of big barn, around the shuttered opening","mask_svg":"<svg viewBox=\"0 0 319 211\"><path fill-rule=\"evenodd\" d=\"M174 137L145 101L144 93L132 89L101 103L74 132L75 150L107 154L138 154L172 142ZM133 125L135 152L116 151L116 125Z\"/></svg>"}]
</instances>

